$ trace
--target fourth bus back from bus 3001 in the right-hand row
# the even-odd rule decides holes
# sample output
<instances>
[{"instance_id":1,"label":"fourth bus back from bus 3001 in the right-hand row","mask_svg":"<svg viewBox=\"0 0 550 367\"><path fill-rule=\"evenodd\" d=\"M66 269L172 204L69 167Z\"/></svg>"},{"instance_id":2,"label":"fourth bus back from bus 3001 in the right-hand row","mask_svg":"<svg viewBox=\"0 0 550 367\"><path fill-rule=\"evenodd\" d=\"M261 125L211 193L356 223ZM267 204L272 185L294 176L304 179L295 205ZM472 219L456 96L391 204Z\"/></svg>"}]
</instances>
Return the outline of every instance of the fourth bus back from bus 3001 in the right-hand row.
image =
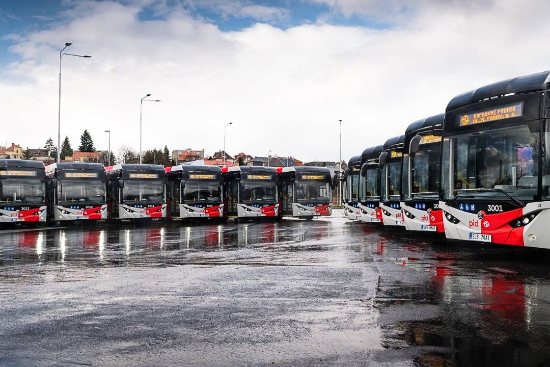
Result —
<instances>
[{"instance_id":1,"label":"fourth bus back from bus 3001 in the right-hand row","mask_svg":"<svg viewBox=\"0 0 550 367\"><path fill-rule=\"evenodd\" d=\"M368 147L361 154L358 202L361 222L382 223L378 158L383 148L383 145Z\"/></svg>"}]
</instances>

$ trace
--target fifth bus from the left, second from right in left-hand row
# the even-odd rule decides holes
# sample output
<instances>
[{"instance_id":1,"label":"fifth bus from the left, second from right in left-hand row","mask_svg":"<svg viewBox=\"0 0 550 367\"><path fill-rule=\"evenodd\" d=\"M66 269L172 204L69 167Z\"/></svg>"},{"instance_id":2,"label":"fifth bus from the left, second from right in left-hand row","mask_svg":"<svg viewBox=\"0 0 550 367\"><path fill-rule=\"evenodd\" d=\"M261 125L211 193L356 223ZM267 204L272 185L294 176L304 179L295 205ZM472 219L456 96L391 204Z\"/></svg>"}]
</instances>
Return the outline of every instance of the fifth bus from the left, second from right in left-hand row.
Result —
<instances>
[{"instance_id":1,"label":"fifth bus from the left, second from right in left-hand row","mask_svg":"<svg viewBox=\"0 0 550 367\"><path fill-rule=\"evenodd\" d=\"M274 167L235 166L222 169L230 218L277 218L279 195Z\"/></svg>"}]
</instances>

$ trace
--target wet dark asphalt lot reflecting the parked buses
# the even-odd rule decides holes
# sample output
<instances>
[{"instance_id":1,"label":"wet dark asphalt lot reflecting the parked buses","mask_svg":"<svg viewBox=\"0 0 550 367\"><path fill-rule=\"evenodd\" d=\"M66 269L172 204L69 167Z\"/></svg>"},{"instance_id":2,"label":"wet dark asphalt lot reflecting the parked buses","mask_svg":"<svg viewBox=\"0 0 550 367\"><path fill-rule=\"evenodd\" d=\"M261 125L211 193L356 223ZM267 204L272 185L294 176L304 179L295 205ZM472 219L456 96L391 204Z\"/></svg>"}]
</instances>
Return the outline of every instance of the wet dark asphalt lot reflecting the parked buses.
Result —
<instances>
[{"instance_id":1,"label":"wet dark asphalt lot reflecting the parked buses","mask_svg":"<svg viewBox=\"0 0 550 367\"><path fill-rule=\"evenodd\" d=\"M550 252L331 218L0 231L0 365L532 366Z\"/></svg>"}]
</instances>

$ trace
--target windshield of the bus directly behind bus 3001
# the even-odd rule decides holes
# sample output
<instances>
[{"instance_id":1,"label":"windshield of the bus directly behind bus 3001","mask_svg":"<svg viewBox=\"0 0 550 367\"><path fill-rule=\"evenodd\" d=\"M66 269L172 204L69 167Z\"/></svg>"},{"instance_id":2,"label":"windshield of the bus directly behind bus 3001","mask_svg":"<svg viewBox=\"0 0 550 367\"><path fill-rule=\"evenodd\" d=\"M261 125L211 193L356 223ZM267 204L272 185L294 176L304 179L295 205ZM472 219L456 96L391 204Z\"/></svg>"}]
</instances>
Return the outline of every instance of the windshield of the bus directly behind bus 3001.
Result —
<instances>
[{"instance_id":1,"label":"windshield of the bus directly behind bus 3001","mask_svg":"<svg viewBox=\"0 0 550 367\"><path fill-rule=\"evenodd\" d=\"M412 160L412 195L439 195L439 144L420 150Z\"/></svg>"}]
</instances>

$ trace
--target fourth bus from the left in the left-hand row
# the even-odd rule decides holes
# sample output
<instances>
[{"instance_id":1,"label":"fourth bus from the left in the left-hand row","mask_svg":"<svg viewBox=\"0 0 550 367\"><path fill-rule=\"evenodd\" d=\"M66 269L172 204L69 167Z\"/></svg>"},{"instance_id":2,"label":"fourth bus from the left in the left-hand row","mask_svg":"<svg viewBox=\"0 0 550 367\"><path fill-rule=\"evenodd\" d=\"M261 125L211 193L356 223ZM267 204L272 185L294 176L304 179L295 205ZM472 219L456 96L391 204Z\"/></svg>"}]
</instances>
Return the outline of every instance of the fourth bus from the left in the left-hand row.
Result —
<instances>
[{"instance_id":1,"label":"fourth bus from the left in the left-hand row","mask_svg":"<svg viewBox=\"0 0 550 367\"><path fill-rule=\"evenodd\" d=\"M168 215L179 219L227 218L222 170L210 166L166 167Z\"/></svg>"}]
</instances>

